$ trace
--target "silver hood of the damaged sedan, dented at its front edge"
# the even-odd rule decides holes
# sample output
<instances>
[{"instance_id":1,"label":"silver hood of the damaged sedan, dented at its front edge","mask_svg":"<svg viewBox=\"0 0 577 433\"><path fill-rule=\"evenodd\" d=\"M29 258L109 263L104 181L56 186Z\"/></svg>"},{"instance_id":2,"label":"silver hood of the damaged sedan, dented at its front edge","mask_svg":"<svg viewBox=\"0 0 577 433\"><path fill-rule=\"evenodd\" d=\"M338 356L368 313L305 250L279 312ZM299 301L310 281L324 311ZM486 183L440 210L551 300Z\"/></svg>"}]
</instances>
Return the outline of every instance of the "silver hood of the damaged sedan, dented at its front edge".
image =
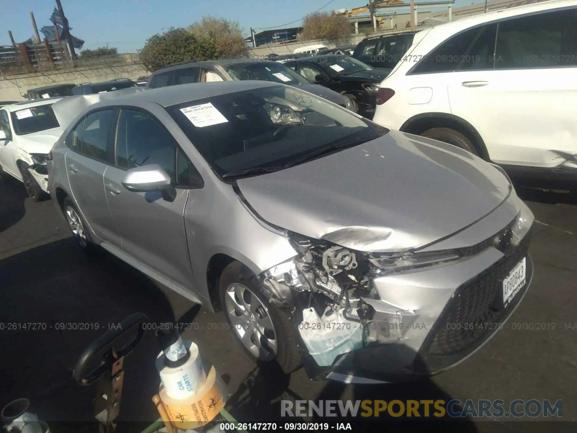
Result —
<instances>
[{"instance_id":1,"label":"silver hood of the damaged sedan, dented at its front edge","mask_svg":"<svg viewBox=\"0 0 577 433\"><path fill-rule=\"evenodd\" d=\"M398 131L237 184L265 221L373 252L423 247L458 232L511 188L477 156Z\"/></svg>"}]
</instances>

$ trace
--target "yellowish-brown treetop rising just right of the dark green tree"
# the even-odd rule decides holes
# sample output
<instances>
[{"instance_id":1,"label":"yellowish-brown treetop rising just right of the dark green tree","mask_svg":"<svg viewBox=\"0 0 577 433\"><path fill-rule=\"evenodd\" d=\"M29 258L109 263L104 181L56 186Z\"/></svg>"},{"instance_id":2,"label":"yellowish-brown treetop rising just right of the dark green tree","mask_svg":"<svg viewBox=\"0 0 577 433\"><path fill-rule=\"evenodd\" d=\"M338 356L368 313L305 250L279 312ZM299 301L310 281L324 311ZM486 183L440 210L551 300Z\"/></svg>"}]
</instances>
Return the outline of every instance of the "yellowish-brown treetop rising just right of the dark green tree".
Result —
<instances>
[{"instance_id":1,"label":"yellowish-brown treetop rising just right of the dark green tree","mask_svg":"<svg viewBox=\"0 0 577 433\"><path fill-rule=\"evenodd\" d=\"M198 39L211 39L216 44L216 58L242 58L248 54L242 28L237 21L225 18L203 17L189 28Z\"/></svg>"}]
</instances>

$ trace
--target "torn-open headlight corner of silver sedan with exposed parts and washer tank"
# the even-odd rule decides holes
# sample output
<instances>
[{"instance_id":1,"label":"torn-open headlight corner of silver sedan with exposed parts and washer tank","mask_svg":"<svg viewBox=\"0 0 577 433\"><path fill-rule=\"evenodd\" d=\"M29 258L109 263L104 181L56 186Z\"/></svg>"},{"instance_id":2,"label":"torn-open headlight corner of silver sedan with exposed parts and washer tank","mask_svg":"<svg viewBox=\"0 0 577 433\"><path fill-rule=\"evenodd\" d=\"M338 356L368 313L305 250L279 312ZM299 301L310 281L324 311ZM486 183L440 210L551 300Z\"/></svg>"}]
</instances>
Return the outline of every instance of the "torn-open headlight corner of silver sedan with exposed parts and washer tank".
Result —
<instances>
[{"instance_id":1,"label":"torn-open headlight corner of silver sedan with exposed parts and washer tank","mask_svg":"<svg viewBox=\"0 0 577 433\"><path fill-rule=\"evenodd\" d=\"M306 351L319 367L372 344L396 342L416 312L382 301L374 279L458 258L449 253L384 255L359 252L298 234L298 255L260 275L268 300L293 311Z\"/></svg>"}]
</instances>

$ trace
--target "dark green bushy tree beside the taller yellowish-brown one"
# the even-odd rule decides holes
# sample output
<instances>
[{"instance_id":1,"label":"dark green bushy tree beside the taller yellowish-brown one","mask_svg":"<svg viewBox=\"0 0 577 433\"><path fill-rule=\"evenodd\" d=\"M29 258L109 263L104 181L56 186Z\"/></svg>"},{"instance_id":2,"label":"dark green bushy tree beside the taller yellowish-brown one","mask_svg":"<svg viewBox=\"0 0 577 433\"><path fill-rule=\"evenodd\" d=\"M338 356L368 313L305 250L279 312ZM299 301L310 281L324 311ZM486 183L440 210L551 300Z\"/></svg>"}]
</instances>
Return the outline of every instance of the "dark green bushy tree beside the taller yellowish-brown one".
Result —
<instances>
[{"instance_id":1,"label":"dark green bushy tree beside the taller yellowish-brown one","mask_svg":"<svg viewBox=\"0 0 577 433\"><path fill-rule=\"evenodd\" d=\"M152 72L173 63L210 60L216 55L212 39L197 38L184 28L171 27L148 38L138 58Z\"/></svg>"}]
</instances>

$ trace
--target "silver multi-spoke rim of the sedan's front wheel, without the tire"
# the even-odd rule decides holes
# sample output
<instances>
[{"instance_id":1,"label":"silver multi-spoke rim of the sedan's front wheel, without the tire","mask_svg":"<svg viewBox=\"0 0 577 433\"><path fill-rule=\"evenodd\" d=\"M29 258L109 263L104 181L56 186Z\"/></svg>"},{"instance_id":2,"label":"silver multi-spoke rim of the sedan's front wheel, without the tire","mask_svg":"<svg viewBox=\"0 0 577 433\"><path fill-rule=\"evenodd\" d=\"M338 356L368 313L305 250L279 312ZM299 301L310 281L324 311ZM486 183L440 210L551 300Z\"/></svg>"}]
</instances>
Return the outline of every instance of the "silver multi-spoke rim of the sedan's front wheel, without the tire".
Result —
<instances>
[{"instance_id":1,"label":"silver multi-spoke rim of the sedan's front wheel, without the tire","mask_svg":"<svg viewBox=\"0 0 577 433\"><path fill-rule=\"evenodd\" d=\"M267 307L241 283L228 286L225 302L228 319L245 348L260 360L274 359L278 346Z\"/></svg>"}]
</instances>

